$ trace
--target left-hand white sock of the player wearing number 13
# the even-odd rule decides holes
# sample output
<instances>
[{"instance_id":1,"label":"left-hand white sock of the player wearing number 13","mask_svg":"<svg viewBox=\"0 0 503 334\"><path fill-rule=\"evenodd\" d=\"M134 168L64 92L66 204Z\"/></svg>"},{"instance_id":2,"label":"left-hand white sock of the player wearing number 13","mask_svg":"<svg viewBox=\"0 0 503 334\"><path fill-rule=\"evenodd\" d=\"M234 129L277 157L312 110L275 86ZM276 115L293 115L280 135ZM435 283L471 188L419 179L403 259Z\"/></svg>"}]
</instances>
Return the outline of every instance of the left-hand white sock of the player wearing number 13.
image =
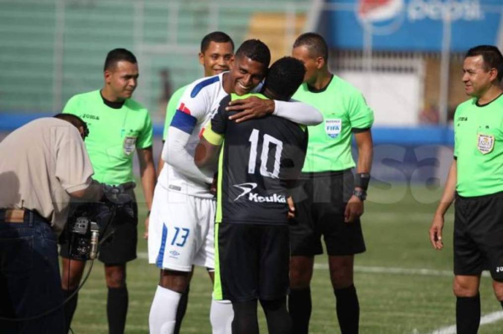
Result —
<instances>
[{"instance_id":1,"label":"left-hand white sock of the player wearing number 13","mask_svg":"<svg viewBox=\"0 0 503 334\"><path fill-rule=\"evenodd\" d=\"M181 296L181 293L157 285L148 315L150 334L173 333Z\"/></svg>"}]
</instances>

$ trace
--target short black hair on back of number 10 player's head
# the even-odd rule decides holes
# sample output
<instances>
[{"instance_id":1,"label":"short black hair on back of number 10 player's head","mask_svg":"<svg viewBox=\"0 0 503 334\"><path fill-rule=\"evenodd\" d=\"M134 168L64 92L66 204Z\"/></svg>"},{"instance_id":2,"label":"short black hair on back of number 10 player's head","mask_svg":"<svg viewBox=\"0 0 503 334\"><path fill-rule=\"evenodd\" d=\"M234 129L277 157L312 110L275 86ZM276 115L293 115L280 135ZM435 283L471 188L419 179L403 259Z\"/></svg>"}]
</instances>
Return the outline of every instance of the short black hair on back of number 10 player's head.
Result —
<instances>
[{"instance_id":1,"label":"short black hair on back of number 10 player's head","mask_svg":"<svg viewBox=\"0 0 503 334\"><path fill-rule=\"evenodd\" d=\"M293 57L283 57L274 62L267 72L262 91L276 94L276 98L289 100L297 91L306 74L304 64Z\"/></svg>"}]
</instances>

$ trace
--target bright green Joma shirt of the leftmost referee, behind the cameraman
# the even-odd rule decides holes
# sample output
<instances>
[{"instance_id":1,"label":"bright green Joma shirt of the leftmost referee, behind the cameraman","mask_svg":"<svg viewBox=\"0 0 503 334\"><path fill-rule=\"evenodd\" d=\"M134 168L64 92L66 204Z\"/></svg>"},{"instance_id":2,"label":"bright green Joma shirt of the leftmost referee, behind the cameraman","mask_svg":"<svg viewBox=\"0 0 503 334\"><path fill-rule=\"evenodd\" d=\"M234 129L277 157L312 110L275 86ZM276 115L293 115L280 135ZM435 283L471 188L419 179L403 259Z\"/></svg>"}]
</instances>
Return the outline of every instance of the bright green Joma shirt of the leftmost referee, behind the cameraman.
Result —
<instances>
[{"instance_id":1,"label":"bright green Joma shirt of the leftmost referee, behind the cameraman","mask_svg":"<svg viewBox=\"0 0 503 334\"><path fill-rule=\"evenodd\" d=\"M148 110L129 98L121 108L103 102L100 90L72 96L63 113L73 114L89 128L86 148L99 182L120 184L134 181L135 149L152 146L152 122Z\"/></svg>"}]
</instances>

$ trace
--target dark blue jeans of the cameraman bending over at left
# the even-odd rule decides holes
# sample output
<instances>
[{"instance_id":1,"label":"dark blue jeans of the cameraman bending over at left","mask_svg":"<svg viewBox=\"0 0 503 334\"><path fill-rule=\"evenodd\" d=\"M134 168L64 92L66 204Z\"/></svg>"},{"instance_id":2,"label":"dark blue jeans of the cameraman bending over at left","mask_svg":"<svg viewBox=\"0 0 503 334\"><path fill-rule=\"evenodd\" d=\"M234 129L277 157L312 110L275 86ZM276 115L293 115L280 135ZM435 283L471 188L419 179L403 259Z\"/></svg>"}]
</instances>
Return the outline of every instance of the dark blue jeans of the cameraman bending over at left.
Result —
<instances>
[{"instance_id":1,"label":"dark blue jeans of the cameraman bending over at left","mask_svg":"<svg viewBox=\"0 0 503 334\"><path fill-rule=\"evenodd\" d=\"M61 305L57 237L47 221L26 211L23 222L6 222L0 209L0 317L36 316ZM33 320L0 319L2 334L63 334L63 308Z\"/></svg>"}]
</instances>

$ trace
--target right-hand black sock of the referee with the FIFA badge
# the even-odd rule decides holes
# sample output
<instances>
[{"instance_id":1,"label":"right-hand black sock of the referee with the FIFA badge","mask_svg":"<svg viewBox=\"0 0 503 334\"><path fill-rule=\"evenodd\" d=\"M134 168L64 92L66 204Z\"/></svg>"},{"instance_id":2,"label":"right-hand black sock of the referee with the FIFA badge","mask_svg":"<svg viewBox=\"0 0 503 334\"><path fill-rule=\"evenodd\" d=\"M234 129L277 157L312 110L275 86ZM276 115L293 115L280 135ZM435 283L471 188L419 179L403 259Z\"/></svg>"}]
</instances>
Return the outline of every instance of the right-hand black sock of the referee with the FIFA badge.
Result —
<instances>
[{"instance_id":1,"label":"right-hand black sock of the referee with the FIFA badge","mask_svg":"<svg viewBox=\"0 0 503 334\"><path fill-rule=\"evenodd\" d=\"M357 334L360 320L360 304L355 285L344 289L334 289L337 300L337 318L342 334Z\"/></svg>"}]
</instances>

